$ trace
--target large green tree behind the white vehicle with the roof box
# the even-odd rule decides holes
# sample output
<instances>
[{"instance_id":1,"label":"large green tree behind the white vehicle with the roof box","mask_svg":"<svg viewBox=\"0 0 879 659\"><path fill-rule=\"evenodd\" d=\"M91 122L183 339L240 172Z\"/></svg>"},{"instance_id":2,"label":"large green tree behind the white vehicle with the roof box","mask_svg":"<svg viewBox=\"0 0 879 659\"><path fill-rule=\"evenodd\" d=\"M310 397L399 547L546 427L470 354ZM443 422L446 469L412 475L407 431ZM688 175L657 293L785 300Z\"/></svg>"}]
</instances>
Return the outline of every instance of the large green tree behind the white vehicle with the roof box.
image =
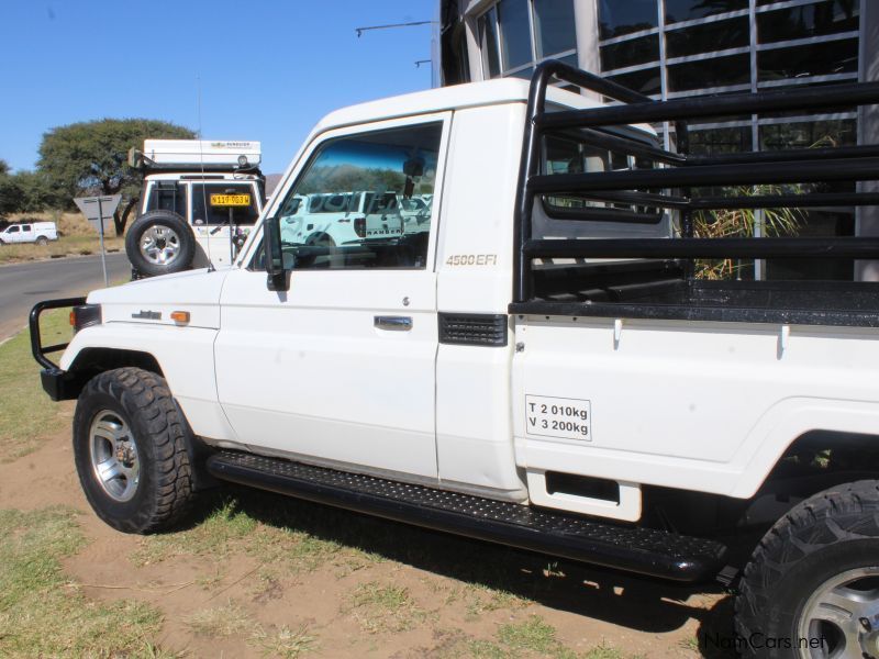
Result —
<instances>
[{"instance_id":1,"label":"large green tree behind the white vehicle with the roof box","mask_svg":"<svg viewBox=\"0 0 879 659\"><path fill-rule=\"evenodd\" d=\"M51 189L66 198L85 193L140 193L143 175L127 165L129 149L142 148L147 138L192 139L187 127L152 119L103 119L58 126L43 135L37 167ZM116 234L124 226L114 217Z\"/></svg>"}]
</instances>

